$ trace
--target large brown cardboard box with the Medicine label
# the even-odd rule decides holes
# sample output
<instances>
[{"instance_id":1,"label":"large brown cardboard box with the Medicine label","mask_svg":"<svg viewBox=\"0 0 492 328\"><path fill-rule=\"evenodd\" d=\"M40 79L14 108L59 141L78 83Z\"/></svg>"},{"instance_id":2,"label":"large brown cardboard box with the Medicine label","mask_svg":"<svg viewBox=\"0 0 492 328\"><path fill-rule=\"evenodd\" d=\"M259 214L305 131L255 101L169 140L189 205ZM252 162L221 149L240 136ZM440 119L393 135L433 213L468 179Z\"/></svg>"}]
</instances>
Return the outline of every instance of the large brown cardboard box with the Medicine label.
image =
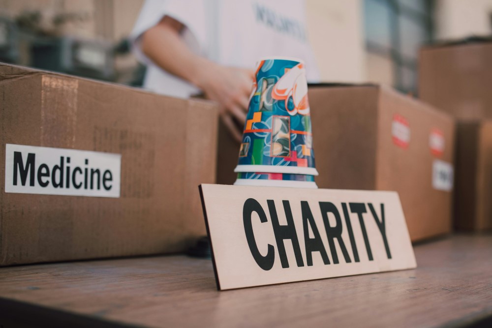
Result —
<instances>
[{"instance_id":1,"label":"large brown cardboard box with the Medicine label","mask_svg":"<svg viewBox=\"0 0 492 328\"><path fill-rule=\"evenodd\" d=\"M0 266L178 252L206 234L197 186L215 182L214 105L4 64L0 94ZM15 145L56 149L32 148L32 165L28 152L14 155L14 186ZM97 153L77 162L74 149ZM103 173L106 155L121 167ZM60 191L113 194L43 194Z\"/></svg>"}]
</instances>

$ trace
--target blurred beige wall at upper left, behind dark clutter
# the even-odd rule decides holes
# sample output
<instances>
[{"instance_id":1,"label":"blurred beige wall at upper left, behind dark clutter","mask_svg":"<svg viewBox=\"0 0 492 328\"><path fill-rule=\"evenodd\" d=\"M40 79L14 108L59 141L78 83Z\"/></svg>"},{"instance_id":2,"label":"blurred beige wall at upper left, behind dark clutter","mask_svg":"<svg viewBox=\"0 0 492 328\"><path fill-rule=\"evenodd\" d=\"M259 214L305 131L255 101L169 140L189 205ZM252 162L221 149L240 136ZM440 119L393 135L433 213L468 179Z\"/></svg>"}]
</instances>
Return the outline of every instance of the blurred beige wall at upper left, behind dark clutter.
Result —
<instances>
[{"instance_id":1,"label":"blurred beige wall at upper left, behind dark clutter","mask_svg":"<svg viewBox=\"0 0 492 328\"><path fill-rule=\"evenodd\" d=\"M0 0L0 15L16 19L26 12L35 12L40 17L40 22L33 24L38 34L102 39L116 45L132 30L143 2L144 0ZM32 36L19 38L17 63L31 64L31 39ZM127 83L128 79L133 79L137 61L131 54L116 56L114 63L118 71L115 82Z\"/></svg>"}]
</instances>

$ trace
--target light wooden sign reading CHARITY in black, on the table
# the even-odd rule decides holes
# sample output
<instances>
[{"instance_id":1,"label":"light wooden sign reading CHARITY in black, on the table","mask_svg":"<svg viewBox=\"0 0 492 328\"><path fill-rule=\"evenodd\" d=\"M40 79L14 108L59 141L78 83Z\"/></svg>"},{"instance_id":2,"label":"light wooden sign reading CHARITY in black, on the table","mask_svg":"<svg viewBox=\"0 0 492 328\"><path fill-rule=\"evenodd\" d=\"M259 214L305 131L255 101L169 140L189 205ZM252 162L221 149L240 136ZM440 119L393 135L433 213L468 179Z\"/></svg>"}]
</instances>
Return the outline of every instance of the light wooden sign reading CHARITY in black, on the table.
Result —
<instances>
[{"instance_id":1,"label":"light wooden sign reading CHARITY in black, on the table","mask_svg":"<svg viewBox=\"0 0 492 328\"><path fill-rule=\"evenodd\" d=\"M398 193L200 185L218 290L416 268Z\"/></svg>"}]
</instances>

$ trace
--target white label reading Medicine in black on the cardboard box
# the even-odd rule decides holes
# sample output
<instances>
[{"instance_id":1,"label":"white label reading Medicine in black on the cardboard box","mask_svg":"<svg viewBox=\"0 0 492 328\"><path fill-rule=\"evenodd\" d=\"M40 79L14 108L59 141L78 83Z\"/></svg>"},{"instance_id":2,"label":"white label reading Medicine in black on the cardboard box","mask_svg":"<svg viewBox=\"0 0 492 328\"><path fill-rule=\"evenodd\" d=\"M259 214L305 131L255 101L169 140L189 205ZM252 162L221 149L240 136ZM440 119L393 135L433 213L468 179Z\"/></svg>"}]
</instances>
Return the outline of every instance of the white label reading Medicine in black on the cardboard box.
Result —
<instances>
[{"instance_id":1,"label":"white label reading Medicine in black on the cardboard box","mask_svg":"<svg viewBox=\"0 0 492 328\"><path fill-rule=\"evenodd\" d=\"M5 192L118 198L120 172L120 154L5 146Z\"/></svg>"}]
</instances>

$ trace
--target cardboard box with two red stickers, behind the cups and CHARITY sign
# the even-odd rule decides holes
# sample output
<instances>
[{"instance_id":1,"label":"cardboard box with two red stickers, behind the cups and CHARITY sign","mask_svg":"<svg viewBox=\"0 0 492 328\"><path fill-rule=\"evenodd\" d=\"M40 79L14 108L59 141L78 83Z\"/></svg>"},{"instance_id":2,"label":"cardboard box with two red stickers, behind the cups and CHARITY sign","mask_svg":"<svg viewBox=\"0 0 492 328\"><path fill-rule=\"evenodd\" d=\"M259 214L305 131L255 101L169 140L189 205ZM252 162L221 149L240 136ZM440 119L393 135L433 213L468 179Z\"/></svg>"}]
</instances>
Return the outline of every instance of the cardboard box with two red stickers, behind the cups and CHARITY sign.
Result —
<instances>
[{"instance_id":1,"label":"cardboard box with two red stickers, behind the cups and CHARITY sign","mask_svg":"<svg viewBox=\"0 0 492 328\"><path fill-rule=\"evenodd\" d=\"M450 232L455 127L449 115L371 85L314 85L308 99L319 188L397 191L412 241ZM438 151L430 145L436 133ZM217 183L232 184L239 145L224 131L219 136ZM446 168L445 186L434 185L436 164Z\"/></svg>"}]
</instances>

